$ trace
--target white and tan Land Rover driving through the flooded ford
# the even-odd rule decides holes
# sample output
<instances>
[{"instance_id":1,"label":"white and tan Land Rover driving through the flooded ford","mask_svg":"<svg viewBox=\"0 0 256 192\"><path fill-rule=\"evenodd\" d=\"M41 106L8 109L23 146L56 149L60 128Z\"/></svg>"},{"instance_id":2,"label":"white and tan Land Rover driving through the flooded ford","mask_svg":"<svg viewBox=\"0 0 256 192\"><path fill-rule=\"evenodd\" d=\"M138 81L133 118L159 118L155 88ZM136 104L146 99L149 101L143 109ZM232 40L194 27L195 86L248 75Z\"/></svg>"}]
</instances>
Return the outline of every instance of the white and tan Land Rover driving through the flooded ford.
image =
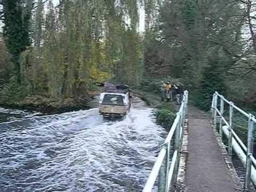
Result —
<instances>
[{"instance_id":1,"label":"white and tan Land Rover driving through the flooded ford","mask_svg":"<svg viewBox=\"0 0 256 192\"><path fill-rule=\"evenodd\" d=\"M103 117L123 117L131 107L127 85L109 85L103 89L99 100L99 113Z\"/></svg>"}]
</instances>

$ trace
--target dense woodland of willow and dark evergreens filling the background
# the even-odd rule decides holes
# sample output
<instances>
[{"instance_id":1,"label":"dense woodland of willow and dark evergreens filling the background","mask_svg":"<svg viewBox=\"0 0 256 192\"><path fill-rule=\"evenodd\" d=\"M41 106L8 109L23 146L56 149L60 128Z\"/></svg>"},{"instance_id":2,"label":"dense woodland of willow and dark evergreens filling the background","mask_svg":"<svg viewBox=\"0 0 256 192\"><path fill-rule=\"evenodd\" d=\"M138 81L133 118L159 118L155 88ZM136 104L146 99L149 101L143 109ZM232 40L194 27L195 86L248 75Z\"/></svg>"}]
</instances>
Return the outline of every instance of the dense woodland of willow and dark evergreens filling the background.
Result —
<instances>
[{"instance_id":1,"label":"dense woodland of willow and dark evergreens filling the background","mask_svg":"<svg viewBox=\"0 0 256 192\"><path fill-rule=\"evenodd\" d=\"M214 90L256 108L256 1L0 4L1 103L38 95L54 102L77 99L101 81L153 91L169 78L185 84L204 109L210 109ZM140 14L145 14L143 31Z\"/></svg>"}]
</instances>

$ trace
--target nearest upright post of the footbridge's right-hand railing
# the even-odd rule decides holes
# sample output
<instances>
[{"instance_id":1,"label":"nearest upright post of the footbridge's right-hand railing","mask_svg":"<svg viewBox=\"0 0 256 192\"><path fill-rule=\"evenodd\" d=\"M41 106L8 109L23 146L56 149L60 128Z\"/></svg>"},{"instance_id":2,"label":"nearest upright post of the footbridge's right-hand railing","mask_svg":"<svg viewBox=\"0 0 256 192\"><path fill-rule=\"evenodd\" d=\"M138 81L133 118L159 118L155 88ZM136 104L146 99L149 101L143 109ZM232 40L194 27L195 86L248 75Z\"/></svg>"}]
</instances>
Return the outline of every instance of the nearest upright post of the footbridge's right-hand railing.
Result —
<instances>
[{"instance_id":1,"label":"nearest upright post of the footbridge's right-hand railing","mask_svg":"<svg viewBox=\"0 0 256 192\"><path fill-rule=\"evenodd\" d=\"M253 129L254 123L252 121L253 115L249 114L248 121L248 134L247 134L247 154L246 154L246 166L245 166L245 182L244 189L250 189L251 182L251 169L252 169L252 159L251 155L253 154Z\"/></svg>"}]
</instances>

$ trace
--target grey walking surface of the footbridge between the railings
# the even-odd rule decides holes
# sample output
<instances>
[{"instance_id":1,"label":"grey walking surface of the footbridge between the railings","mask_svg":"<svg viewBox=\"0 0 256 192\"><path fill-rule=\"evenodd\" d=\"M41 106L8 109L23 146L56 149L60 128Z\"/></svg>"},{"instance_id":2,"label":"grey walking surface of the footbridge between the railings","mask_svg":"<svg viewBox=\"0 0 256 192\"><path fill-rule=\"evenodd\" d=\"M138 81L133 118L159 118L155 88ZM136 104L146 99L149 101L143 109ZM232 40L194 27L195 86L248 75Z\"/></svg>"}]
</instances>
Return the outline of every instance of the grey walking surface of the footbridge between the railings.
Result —
<instances>
[{"instance_id":1,"label":"grey walking surface of the footbridge between the railings","mask_svg":"<svg viewBox=\"0 0 256 192\"><path fill-rule=\"evenodd\" d=\"M187 192L236 191L209 117L194 107L189 115Z\"/></svg>"}]
</instances>

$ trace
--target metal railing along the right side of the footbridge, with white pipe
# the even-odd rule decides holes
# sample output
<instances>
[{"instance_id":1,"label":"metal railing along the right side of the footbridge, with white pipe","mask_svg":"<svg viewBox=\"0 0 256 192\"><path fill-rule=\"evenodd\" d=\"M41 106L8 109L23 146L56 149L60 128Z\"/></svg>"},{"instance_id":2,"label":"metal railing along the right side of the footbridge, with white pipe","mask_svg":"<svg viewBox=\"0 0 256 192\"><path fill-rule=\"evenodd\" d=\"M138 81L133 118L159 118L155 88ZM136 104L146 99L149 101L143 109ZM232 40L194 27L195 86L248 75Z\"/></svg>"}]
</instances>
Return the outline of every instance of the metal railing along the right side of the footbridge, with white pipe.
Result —
<instances>
[{"instance_id":1,"label":"metal railing along the right side of the footbridge, with white pipe","mask_svg":"<svg viewBox=\"0 0 256 192\"><path fill-rule=\"evenodd\" d=\"M225 103L229 105L228 120L226 120L224 116ZM243 141L238 137L233 129L234 110L238 111L239 113L243 114L245 117L248 118L247 147L244 145ZM250 188L251 181L254 186L256 186L256 160L253 157L253 132L254 124L256 124L255 117L252 114L248 114L242 109L235 106L233 102L228 101L218 92L215 92L213 94L211 113L214 119L214 129L217 129L217 123L219 123L219 135L221 139L223 133L225 133L226 137L228 138L228 154L232 155L232 150L234 149L235 153L238 155L239 159L243 162L245 166L244 189ZM225 126L223 126L223 124Z\"/></svg>"}]
</instances>

